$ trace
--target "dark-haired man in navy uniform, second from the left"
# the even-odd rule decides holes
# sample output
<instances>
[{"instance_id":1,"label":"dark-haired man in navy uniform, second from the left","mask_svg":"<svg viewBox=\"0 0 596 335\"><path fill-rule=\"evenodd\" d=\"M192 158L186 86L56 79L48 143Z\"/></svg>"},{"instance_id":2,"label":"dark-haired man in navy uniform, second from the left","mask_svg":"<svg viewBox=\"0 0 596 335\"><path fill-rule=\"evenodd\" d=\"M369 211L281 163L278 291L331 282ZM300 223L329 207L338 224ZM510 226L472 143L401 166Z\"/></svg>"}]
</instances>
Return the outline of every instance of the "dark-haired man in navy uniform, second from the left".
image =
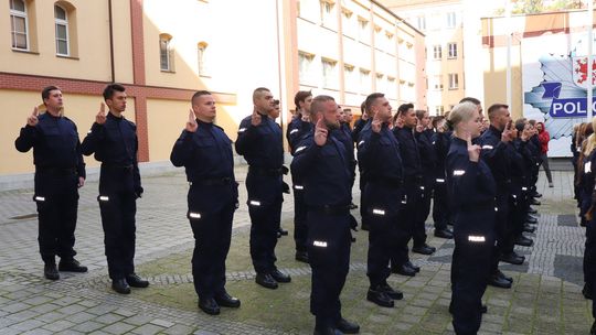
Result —
<instances>
[{"instance_id":1,"label":"dark-haired man in navy uniform, second from the left","mask_svg":"<svg viewBox=\"0 0 596 335\"><path fill-rule=\"evenodd\" d=\"M137 162L137 127L127 120L126 88L109 84L104 89L106 116L102 102L89 133L83 140L83 154L95 153L102 162L99 173L99 210L111 289L120 294L132 288L147 288L149 282L135 273L135 215L142 186Z\"/></svg>"}]
</instances>

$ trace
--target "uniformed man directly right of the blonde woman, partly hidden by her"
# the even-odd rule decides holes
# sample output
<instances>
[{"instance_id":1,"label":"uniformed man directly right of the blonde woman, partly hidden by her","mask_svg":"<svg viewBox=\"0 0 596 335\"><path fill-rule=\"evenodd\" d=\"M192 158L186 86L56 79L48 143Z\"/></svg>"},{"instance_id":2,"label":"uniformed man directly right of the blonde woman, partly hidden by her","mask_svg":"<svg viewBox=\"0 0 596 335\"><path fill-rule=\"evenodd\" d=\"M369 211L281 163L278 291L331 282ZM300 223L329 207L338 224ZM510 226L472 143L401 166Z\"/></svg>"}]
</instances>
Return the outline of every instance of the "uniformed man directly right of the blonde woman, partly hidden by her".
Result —
<instances>
[{"instance_id":1,"label":"uniformed man directly right of the blonde woman, partly hidden by her","mask_svg":"<svg viewBox=\"0 0 596 335\"><path fill-rule=\"evenodd\" d=\"M465 98L466 99L466 98ZM480 101L467 100L477 106L481 110ZM502 289L510 289L512 281L499 270L499 260L519 263L523 262L523 256L518 256L514 251L503 252L504 250L513 250L511 245L513 240L508 231L511 230L509 223L509 198L511 197L511 151L509 142L511 141L511 117L509 107L502 104L494 104L488 109L490 127L481 137L478 138L478 144L481 147L482 160L489 165L494 182L497 183L497 216L496 231L497 245L492 257L492 273L489 279L489 285Z\"/></svg>"}]
</instances>

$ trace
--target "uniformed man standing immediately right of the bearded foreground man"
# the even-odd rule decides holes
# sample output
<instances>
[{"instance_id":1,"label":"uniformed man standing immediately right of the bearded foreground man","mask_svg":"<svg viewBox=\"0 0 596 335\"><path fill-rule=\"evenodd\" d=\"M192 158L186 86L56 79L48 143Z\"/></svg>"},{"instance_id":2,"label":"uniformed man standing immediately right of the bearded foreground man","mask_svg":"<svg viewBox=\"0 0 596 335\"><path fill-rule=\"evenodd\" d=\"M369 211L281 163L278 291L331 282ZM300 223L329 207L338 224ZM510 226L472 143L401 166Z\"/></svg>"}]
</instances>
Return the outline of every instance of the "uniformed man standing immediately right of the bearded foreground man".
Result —
<instances>
[{"instance_id":1,"label":"uniformed man standing immediately right of the bearded foreground man","mask_svg":"<svg viewBox=\"0 0 596 335\"><path fill-rule=\"evenodd\" d=\"M387 284L390 256L395 252L395 245L403 246L408 238L408 231L397 226L404 197L403 165L400 144L389 129L390 102L383 94L374 93L365 104L372 121L362 129L358 158L369 176L364 190L370 212L366 275L371 285L366 300L393 307L393 300L403 299L403 293Z\"/></svg>"}]
</instances>

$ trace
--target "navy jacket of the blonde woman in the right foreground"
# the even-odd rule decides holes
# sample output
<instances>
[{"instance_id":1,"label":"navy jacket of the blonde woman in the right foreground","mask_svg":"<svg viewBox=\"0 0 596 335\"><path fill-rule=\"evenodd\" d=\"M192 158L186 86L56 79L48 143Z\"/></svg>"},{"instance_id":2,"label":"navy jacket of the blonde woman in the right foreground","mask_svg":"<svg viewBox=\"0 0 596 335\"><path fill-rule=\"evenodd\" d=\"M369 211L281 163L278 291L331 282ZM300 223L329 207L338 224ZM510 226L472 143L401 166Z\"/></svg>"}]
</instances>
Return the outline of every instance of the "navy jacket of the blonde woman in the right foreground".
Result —
<instances>
[{"instance_id":1,"label":"navy jacket of the blonde woman in the right foreground","mask_svg":"<svg viewBox=\"0 0 596 335\"><path fill-rule=\"evenodd\" d=\"M493 237L496 184L492 173L482 159L470 161L467 142L455 137L447 154L447 187L455 213L456 239L469 235Z\"/></svg>"}]
</instances>

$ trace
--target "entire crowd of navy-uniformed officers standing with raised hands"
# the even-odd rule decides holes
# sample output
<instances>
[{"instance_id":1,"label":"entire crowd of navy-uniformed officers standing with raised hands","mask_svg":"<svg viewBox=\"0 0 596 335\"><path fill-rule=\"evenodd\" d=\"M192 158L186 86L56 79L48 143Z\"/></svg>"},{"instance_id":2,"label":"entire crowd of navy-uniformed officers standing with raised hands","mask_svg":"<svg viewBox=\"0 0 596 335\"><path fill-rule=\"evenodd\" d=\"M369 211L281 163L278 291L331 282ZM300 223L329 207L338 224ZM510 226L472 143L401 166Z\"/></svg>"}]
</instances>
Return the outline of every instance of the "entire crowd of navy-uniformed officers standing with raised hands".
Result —
<instances>
[{"instance_id":1,"label":"entire crowd of navy-uniformed officers standing with raised hands","mask_svg":"<svg viewBox=\"0 0 596 335\"><path fill-rule=\"evenodd\" d=\"M60 279L58 270L87 270L74 258L74 231L77 188L85 182L83 154L94 154L102 162L97 201L111 288L121 294L130 293L130 287L147 288L149 282L135 273L134 266L136 199L143 188L136 127L123 117L126 88L118 84L105 88L105 104L83 142L74 122L62 114L61 89L46 87L42 100L46 112L33 110L15 147L21 152L33 148L45 278ZM253 112L242 120L233 142L214 125L216 104L211 93L196 91L185 128L172 148L170 160L184 168L189 182L187 217L195 239L192 274L199 309L216 315L222 306L241 305L225 289L225 260L240 206L234 147L248 163L246 205L255 282L272 290L291 282L290 275L277 269L275 255L277 239L287 234L280 218L284 193L290 193L290 187L283 177L291 172L295 258L312 270L315 334L360 332L358 324L343 317L340 302L354 241L350 230L369 233L365 299L394 307L394 301L407 292L392 288L387 278L392 273L415 277L421 268L409 253L436 251L427 244L425 221L429 216L436 237L455 239L449 306L454 329L476 334L487 312L481 304L487 285L512 287L513 279L499 270L499 262L522 264L524 256L514 246L533 244L524 233L536 229L538 219L532 216L536 209L531 206L540 205L536 181L541 164L553 186L544 125L524 118L513 121L502 104L490 106L485 118L481 102L471 97L446 116L429 117L413 104L403 104L393 114L385 96L374 93L362 104L362 117L352 128L349 108L330 96L298 91L286 132L294 156L288 169L283 129L276 122L279 101L269 89L259 87L253 102ZM582 214L590 217L594 179L586 174L592 173L596 140L588 138L588 126L583 128L574 140L575 163L582 168L576 195ZM356 176L358 206L352 202ZM358 207L360 221L351 214ZM596 242L589 231L592 247ZM596 274L588 274L586 294L596 289L592 287Z\"/></svg>"}]
</instances>

